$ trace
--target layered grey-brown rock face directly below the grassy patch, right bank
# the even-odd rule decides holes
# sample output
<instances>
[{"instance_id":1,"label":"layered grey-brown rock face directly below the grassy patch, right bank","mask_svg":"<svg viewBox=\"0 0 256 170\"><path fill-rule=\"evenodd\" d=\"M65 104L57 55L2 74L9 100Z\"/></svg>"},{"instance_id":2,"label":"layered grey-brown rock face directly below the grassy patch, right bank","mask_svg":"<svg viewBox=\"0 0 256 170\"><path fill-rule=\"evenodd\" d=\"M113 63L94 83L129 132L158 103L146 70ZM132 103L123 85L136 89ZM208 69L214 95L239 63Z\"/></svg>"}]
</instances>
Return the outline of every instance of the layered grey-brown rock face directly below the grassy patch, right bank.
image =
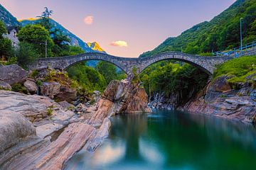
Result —
<instances>
[{"instance_id":1,"label":"layered grey-brown rock face directly below the grassy patch, right bank","mask_svg":"<svg viewBox=\"0 0 256 170\"><path fill-rule=\"evenodd\" d=\"M204 113L232 120L252 123L256 115L256 89L251 84L231 88L228 77L219 77L210 83L197 98L183 108L193 113Z\"/></svg>"}]
</instances>

